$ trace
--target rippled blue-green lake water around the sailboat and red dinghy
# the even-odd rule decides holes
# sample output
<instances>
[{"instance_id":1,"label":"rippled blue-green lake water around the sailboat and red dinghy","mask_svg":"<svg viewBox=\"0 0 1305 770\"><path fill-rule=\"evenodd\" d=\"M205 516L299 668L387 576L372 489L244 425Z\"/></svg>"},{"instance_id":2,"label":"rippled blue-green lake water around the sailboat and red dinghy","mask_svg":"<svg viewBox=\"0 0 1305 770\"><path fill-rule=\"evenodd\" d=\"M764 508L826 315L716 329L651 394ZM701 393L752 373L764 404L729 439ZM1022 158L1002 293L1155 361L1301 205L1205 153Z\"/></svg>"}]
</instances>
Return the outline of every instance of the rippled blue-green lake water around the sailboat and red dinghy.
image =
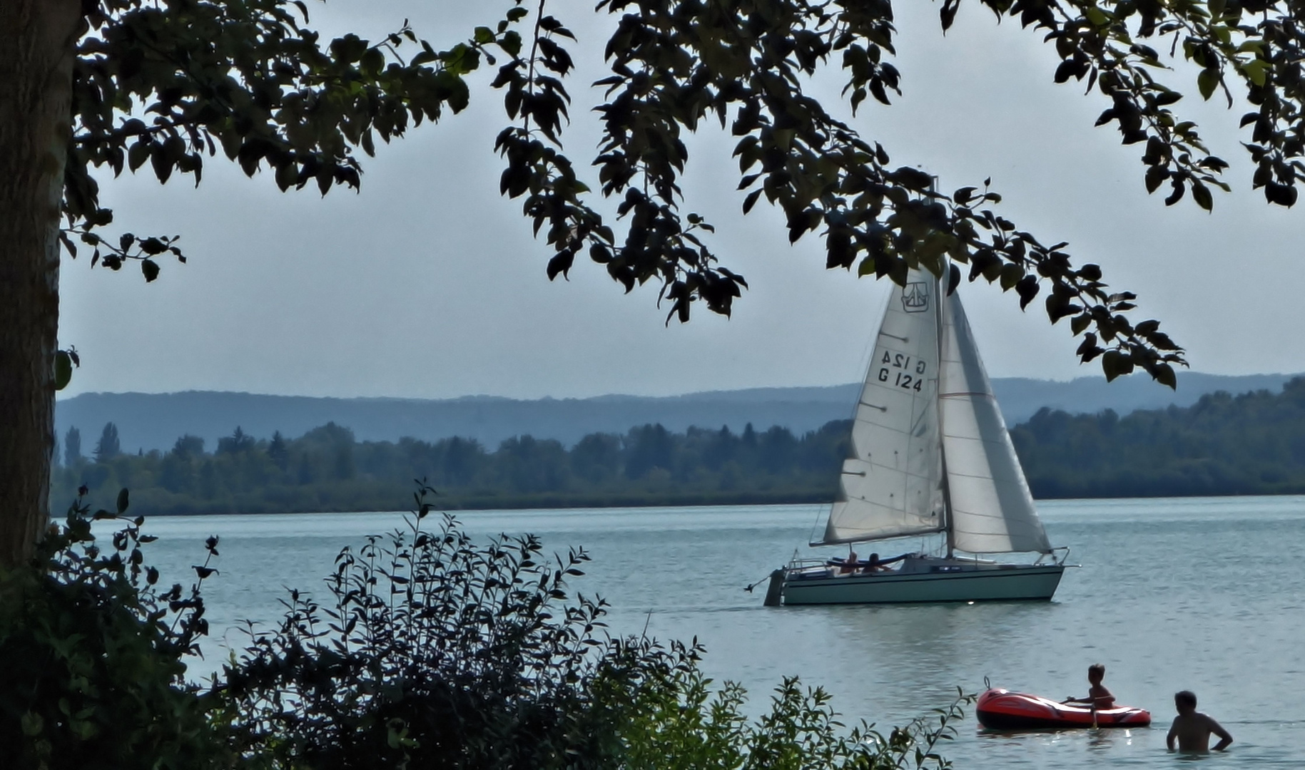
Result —
<instances>
[{"instance_id":1,"label":"rippled blue-green lake water around the sailboat and red dinghy","mask_svg":"<svg viewBox=\"0 0 1305 770\"><path fill-rule=\"evenodd\" d=\"M834 694L844 720L886 726L946 705L958 685L979 692L985 676L1082 696L1087 666L1100 662L1120 702L1150 709L1155 727L989 735L970 713L944 753L957 767L1172 767L1185 761L1164 750L1172 696L1191 689L1236 739L1203 767L1302 765L1305 497L1048 501L1040 510L1052 542L1082 564L1053 602L900 607L766 608L765 585L744 593L795 547L806 551L818 506L459 518L476 535L535 532L545 551L583 546L594 561L572 587L611 602L613 633L647 625L660 638L697 636L703 668L743 683L754 710L782 676L800 675ZM213 516L145 529L161 536L149 560L163 582L189 581L202 539L221 535L221 576L205 583L215 662L223 641L243 645L240 620L279 615L284 586L321 586L339 548L401 523L388 513Z\"/></svg>"}]
</instances>

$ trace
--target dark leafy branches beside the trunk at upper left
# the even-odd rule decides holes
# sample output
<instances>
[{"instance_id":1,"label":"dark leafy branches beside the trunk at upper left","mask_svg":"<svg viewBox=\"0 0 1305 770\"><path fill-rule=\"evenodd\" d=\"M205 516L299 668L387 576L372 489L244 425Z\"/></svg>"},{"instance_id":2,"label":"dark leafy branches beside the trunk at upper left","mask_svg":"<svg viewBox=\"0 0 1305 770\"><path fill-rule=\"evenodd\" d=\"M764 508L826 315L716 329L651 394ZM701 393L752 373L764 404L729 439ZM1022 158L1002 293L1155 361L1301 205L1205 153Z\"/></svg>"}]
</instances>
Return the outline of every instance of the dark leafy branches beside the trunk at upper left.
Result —
<instances>
[{"instance_id":1,"label":"dark leafy branches beside the trunk at upper left","mask_svg":"<svg viewBox=\"0 0 1305 770\"><path fill-rule=\"evenodd\" d=\"M138 261L146 281L158 277L158 257L185 261L176 236L100 235L114 213L100 206L94 168L117 176L149 163L161 183L180 172L198 184L205 158L221 150L249 176L266 166L282 191L356 189L358 149L372 155L377 138L389 142L461 111L470 98L465 77L482 59L521 48L512 14L437 51L406 25L377 42L324 40L301 1L95 0L82 8L63 243L74 257L74 240L89 245L91 266Z\"/></svg>"}]
</instances>

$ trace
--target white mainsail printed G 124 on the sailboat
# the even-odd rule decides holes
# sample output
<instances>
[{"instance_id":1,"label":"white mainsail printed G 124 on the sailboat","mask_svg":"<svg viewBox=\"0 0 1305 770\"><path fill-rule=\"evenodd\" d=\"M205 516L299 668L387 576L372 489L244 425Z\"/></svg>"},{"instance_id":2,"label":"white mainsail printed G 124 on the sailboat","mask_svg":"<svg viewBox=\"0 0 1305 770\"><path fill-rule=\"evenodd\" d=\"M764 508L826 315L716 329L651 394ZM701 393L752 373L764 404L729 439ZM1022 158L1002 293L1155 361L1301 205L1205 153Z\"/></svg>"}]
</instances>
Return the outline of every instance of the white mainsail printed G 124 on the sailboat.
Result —
<instances>
[{"instance_id":1,"label":"white mainsail printed G 124 on the sailboat","mask_svg":"<svg viewBox=\"0 0 1305 770\"><path fill-rule=\"evenodd\" d=\"M893 287L853 416L843 493L813 544L941 529L937 301L929 273L911 270L904 287Z\"/></svg>"}]
</instances>

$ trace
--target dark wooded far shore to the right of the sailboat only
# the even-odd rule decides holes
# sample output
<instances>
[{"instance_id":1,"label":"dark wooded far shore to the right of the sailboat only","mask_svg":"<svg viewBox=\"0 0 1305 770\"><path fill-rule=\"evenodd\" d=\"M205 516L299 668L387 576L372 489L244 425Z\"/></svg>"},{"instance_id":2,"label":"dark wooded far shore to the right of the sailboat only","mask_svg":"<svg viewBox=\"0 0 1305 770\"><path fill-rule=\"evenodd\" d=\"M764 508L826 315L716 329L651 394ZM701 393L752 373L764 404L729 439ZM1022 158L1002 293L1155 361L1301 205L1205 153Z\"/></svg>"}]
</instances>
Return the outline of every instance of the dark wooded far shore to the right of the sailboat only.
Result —
<instances>
[{"instance_id":1,"label":"dark wooded far shore to the right of the sailboat only","mask_svg":"<svg viewBox=\"0 0 1305 770\"><path fill-rule=\"evenodd\" d=\"M1037 497L1305 492L1305 378L1124 418L1044 408L1010 435Z\"/></svg>"}]
</instances>

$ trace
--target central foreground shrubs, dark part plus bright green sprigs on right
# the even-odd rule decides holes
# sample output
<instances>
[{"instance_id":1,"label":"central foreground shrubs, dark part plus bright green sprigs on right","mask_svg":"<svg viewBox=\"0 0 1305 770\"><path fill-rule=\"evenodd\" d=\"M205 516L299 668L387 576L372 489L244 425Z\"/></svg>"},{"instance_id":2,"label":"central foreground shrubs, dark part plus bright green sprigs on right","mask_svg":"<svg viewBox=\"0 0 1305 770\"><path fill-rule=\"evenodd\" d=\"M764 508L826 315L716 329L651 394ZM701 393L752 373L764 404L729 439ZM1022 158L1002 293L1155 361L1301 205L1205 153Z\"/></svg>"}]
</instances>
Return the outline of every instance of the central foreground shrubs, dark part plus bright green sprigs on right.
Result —
<instances>
[{"instance_id":1,"label":"central foreground shrubs, dark part plus bright green sprigs on right","mask_svg":"<svg viewBox=\"0 0 1305 770\"><path fill-rule=\"evenodd\" d=\"M796 679L756 722L716 693L699 649L600 637L602 600L568 602L582 551L549 560L532 536L475 546L431 510L348 548L318 604L291 591L275 632L226 670L243 754L270 767L818 770L947 767L959 698L889 737L846 731Z\"/></svg>"}]
</instances>

